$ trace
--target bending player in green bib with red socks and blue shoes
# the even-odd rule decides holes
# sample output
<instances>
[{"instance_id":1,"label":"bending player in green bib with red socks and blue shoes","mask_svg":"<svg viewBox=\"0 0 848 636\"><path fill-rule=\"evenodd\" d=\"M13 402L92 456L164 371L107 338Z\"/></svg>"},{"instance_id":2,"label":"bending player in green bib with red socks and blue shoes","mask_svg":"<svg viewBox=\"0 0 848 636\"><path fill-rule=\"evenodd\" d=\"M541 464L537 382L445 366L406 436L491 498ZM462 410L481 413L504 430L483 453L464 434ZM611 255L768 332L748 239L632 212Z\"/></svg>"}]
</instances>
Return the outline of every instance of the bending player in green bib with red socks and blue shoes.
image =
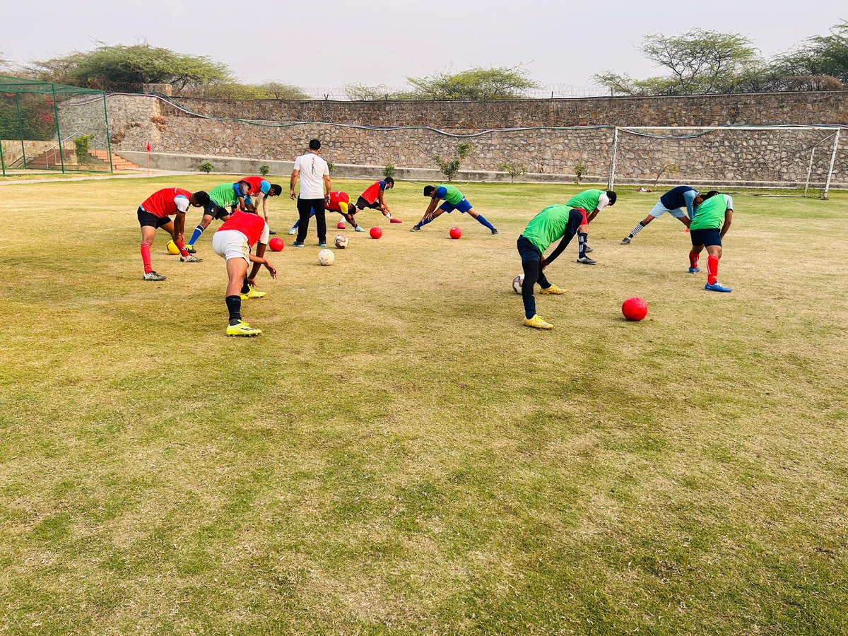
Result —
<instances>
[{"instance_id":1,"label":"bending player in green bib with red socks and blue shoes","mask_svg":"<svg viewBox=\"0 0 848 636\"><path fill-rule=\"evenodd\" d=\"M704 203L695 210L695 218L689 224L692 251L689 252L689 274L700 271L698 259L706 248L706 285L711 292L732 292L718 282L718 259L722 258L722 237L728 233L734 220L734 200L729 194L716 191L704 195ZM721 230L719 230L721 228Z\"/></svg>"}]
</instances>

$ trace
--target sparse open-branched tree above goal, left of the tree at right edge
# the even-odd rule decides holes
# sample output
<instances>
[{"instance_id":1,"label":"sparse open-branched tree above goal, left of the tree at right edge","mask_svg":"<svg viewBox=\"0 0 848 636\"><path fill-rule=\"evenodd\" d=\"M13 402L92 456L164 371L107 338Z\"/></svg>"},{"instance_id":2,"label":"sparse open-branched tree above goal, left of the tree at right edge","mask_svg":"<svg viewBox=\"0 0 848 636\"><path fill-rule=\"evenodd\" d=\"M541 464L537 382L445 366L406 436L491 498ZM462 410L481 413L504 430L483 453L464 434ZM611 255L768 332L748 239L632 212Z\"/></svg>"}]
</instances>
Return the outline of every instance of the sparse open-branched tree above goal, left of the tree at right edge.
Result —
<instances>
[{"instance_id":1,"label":"sparse open-branched tree above goal, left of the tree at right edge","mask_svg":"<svg viewBox=\"0 0 848 636\"><path fill-rule=\"evenodd\" d=\"M686 95L734 92L740 78L762 67L756 48L745 36L695 29L682 36L645 36L642 53L667 75L634 80L607 72L595 81L625 95Z\"/></svg>"}]
</instances>

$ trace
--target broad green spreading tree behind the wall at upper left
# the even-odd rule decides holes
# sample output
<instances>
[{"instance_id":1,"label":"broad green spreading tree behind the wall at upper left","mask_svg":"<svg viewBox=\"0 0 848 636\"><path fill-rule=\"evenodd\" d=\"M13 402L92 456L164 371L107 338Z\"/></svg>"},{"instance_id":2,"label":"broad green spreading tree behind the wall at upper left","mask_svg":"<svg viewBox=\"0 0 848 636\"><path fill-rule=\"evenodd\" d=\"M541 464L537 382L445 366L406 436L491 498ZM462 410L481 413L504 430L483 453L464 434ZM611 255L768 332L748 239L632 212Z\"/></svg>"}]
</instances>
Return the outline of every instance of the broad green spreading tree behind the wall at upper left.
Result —
<instances>
[{"instance_id":1,"label":"broad green spreading tree behind the wall at upper left","mask_svg":"<svg viewBox=\"0 0 848 636\"><path fill-rule=\"evenodd\" d=\"M127 90L140 84L170 84L177 92L187 86L232 81L230 70L204 55L176 53L147 43L105 44L92 51L37 61L37 79L102 90Z\"/></svg>"}]
</instances>

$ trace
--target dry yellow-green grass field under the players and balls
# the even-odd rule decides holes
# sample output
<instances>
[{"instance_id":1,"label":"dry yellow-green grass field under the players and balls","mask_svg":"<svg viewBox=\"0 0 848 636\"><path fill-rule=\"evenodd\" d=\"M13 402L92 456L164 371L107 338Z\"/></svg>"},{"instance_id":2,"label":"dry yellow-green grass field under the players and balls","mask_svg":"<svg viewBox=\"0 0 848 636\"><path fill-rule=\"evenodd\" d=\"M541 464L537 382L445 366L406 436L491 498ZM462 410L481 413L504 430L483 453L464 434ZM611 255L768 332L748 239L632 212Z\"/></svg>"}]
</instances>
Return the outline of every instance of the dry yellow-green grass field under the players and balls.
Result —
<instances>
[{"instance_id":1,"label":"dry yellow-green grass field under the players and balls","mask_svg":"<svg viewBox=\"0 0 848 636\"><path fill-rule=\"evenodd\" d=\"M620 188L538 332L516 237L577 188L414 235L399 182L379 241L272 254L239 339L211 232L141 280L165 185L0 186L3 633L848 633L844 193L734 193L717 294L677 221L618 244L656 202Z\"/></svg>"}]
</instances>

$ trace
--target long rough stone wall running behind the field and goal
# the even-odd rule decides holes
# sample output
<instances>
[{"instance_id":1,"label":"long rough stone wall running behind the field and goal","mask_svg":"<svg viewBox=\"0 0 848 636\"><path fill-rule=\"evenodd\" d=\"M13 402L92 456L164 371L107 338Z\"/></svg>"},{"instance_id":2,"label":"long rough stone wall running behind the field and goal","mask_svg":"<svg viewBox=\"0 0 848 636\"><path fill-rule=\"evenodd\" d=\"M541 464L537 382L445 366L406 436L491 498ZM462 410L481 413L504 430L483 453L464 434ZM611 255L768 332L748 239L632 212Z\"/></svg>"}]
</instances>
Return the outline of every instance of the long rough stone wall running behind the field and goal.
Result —
<instances>
[{"instance_id":1,"label":"long rough stone wall running behind the field and goal","mask_svg":"<svg viewBox=\"0 0 848 636\"><path fill-rule=\"evenodd\" d=\"M189 104L189 102L191 102ZM427 169L438 153L452 157L455 144L471 142L463 168L498 170L499 162L518 162L539 176L571 179L577 163L588 166L586 177L605 181L611 167L613 129L564 129L577 123L602 125L711 126L838 121L848 124L848 92L779 93L765 96L692 98L593 98L522 100L479 103L340 103L260 100L182 100L195 112L239 119L326 119L333 123L258 126L232 119L210 120L145 96L109 98L112 144L116 152L138 152L149 141L157 153L287 161L304 152L307 140L320 138L326 159L342 165L373 166L379 173L391 161L399 168ZM755 104L760 103L760 107ZM581 104L587 108L581 111ZM591 109L589 109L591 107ZM608 109L608 110L605 110ZM663 119L665 118L665 119ZM364 129L345 124L412 126L396 130ZM423 123L442 131L422 127ZM530 126L525 130L488 130ZM546 127L547 126L547 127ZM456 137L455 131L471 137ZM837 156L834 180L848 184L848 131ZM663 176L702 184L803 185L813 155L812 180L826 175L833 147L832 130L700 131L686 140L637 137L620 132L616 181L645 183ZM818 145L817 145L818 144ZM673 177L672 177L673 175Z\"/></svg>"}]
</instances>

